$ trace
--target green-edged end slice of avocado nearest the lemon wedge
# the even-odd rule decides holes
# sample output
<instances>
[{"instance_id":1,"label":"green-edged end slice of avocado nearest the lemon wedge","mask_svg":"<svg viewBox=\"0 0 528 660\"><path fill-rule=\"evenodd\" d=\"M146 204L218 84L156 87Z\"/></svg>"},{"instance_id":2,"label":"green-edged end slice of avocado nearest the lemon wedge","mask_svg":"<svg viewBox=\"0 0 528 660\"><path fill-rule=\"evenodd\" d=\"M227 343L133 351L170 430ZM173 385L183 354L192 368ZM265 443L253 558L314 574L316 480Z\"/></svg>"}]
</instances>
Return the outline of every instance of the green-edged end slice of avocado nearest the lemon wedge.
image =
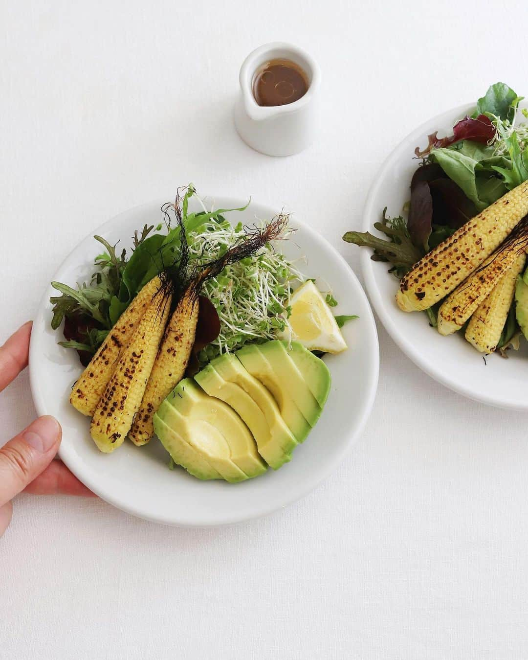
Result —
<instances>
[{"instance_id":1,"label":"green-edged end slice of avocado nearest the lemon wedge","mask_svg":"<svg viewBox=\"0 0 528 660\"><path fill-rule=\"evenodd\" d=\"M324 407L330 392L331 378L328 367L320 358L298 341L292 341L290 347L286 341L269 341L267 344L262 344L260 349L266 351L268 359L271 354L277 352L277 359L281 360L281 356L286 352L295 363L300 376L306 381L319 406Z\"/></svg>"}]
</instances>

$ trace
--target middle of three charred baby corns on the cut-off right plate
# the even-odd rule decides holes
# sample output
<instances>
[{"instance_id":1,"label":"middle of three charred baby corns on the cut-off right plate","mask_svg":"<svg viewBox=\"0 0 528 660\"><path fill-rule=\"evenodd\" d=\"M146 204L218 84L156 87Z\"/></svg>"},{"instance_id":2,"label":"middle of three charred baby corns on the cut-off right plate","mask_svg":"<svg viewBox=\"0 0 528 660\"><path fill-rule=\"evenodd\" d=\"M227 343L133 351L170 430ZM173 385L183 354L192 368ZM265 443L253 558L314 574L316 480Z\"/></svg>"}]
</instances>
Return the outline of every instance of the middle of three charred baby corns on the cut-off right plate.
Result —
<instances>
[{"instance_id":1,"label":"middle of three charred baby corns on the cut-off right plate","mask_svg":"<svg viewBox=\"0 0 528 660\"><path fill-rule=\"evenodd\" d=\"M524 218L512 236L444 300L438 310L440 335L459 330L527 248L528 218Z\"/></svg>"}]
</instances>

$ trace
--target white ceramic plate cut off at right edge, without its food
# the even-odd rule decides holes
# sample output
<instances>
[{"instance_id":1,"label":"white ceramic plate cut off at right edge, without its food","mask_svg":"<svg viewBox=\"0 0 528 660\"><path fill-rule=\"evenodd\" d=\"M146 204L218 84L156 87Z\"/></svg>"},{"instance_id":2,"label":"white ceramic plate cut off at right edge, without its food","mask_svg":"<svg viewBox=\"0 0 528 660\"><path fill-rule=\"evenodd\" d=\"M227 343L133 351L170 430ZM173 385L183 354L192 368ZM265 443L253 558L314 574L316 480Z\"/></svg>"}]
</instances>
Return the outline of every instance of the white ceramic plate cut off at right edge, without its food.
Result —
<instances>
[{"instance_id":1,"label":"white ceramic plate cut off at right edge, without its food","mask_svg":"<svg viewBox=\"0 0 528 660\"><path fill-rule=\"evenodd\" d=\"M400 215L410 197L411 176L419 161L413 158L415 147L427 145L427 135L438 129L439 135L452 135L457 119L471 114L473 106L461 106L430 119L408 135L390 154L368 193L363 230L372 232L382 210ZM459 335L442 337L430 328L425 314L406 314L396 306L397 280L388 273L386 263L372 261L371 251L361 248L361 265L370 302L397 345L426 373L446 387L469 399L505 409L528 410L526 380L528 347L509 351L508 360L487 356L471 347Z\"/></svg>"}]
</instances>

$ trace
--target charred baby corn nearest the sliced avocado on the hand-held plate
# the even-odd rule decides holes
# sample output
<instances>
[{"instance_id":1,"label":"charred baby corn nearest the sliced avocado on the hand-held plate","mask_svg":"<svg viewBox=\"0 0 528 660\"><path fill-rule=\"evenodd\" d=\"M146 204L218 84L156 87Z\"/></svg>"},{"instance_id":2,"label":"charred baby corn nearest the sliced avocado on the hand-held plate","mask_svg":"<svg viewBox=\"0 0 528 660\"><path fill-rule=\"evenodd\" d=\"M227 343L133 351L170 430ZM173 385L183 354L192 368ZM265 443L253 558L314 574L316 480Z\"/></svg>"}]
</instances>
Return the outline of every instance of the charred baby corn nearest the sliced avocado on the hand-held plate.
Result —
<instances>
[{"instance_id":1,"label":"charred baby corn nearest the sliced avocado on the hand-held plate","mask_svg":"<svg viewBox=\"0 0 528 660\"><path fill-rule=\"evenodd\" d=\"M152 367L143 400L129 438L136 445L146 444L154 435L152 418L161 402L181 381L191 357L196 323L198 322L198 300L187 292L177 304L161 342L156 362Z\"/></svg>"}]
</instances>

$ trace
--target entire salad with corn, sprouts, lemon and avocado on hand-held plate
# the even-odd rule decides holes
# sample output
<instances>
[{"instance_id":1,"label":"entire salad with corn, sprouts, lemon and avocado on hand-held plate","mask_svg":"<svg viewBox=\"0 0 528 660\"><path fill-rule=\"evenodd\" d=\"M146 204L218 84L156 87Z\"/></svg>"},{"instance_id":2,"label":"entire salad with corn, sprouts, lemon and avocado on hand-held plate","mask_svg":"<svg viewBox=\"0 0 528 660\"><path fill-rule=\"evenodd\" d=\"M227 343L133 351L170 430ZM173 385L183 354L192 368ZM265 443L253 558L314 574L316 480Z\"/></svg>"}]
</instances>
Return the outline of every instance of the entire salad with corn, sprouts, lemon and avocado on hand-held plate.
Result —
<instances>
[{"instance_id":1,"label":"entire salad with corn, sprouts, lemon and avocado on hand-held plate","mask_svg":"<svg viewBox=\"0 0 528 660\"><path fill-rule=\"evenodd\" d=\"M70 402L100 451L156 433L171 465L237 482L305 440L330 391L320 354L347 348L339 327L353 317L336 319L276 249L287 215L232 226L223 214L247 207L191 213L191 197L182 189L164 223L135 232L130 256L96 236L90 282L52 282L51 325L64 319L59 343L85 366Z\"/></svg>"}]
</instances>

